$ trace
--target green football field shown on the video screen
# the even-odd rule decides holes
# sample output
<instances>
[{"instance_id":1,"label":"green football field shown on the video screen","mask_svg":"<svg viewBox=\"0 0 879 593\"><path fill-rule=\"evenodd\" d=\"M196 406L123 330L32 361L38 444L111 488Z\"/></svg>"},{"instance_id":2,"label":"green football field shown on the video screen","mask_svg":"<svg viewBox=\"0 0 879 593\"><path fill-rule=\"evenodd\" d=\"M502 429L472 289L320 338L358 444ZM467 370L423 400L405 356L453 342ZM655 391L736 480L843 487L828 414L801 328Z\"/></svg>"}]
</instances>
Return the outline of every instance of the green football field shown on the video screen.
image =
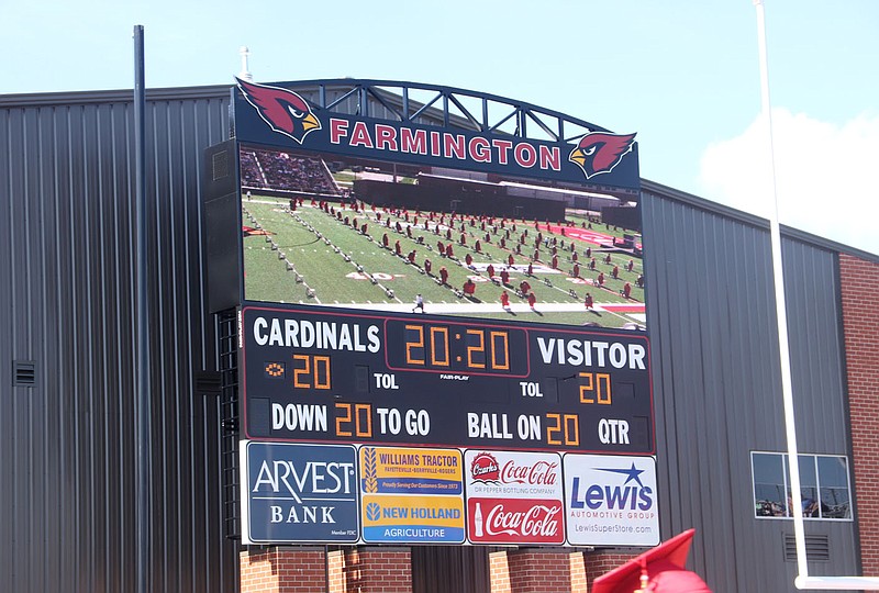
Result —
<instances>
[{"instance_id":1,"label":"green football field shown on the video screen","mask_svg":"<svg viewBox=\"0 0 879 593\"><path fill-rule=\"evenodd\" d=\"M468 216L464 220L458 216L452 222L448 213L443 213L445 224L438 226L437 235L435 228L441 213L434 213L433 222L427 221L427 213L421 213L418 224L414 224L414 212L408 213L407 222L403 213L394 215L382 210L372 211L368 205L360 212L349 208L341 210L337 203L331 205L340 213L341 221L310 205L309 201L292 212L285 199L254 195L243 203L244 226L265 233L244 237L247 300L408 312L412 311L415 295L420 293L427 314L608 327L632 323L644 325L644 291L636 286L637 277L643 273L642 260L628 254L611 250L611 262L607 264L608 251L594 244L575 240L580 265L580 278L575 279L571 277L571 239L550 234L545 225L535 228L534 221L508 221L505 226L511 231L511 239L502 249L499 239L504 237L507 230L500 226L493 230L487 225L483 231L478 219L472 224ZM355 219L358 228L367 225L366 234L354 228ZM397 231L397 223L400 223L402 232ZM499 221L496 223L499 225ZM411 236L407 233L410 224ZM516 224L515 232L512 224ZM623 234L619 230L598 226L609 236ZM527 244L522 245L522 255L515 255L512 251L515 239L525 230L528 232ZM446 238L447 232L450 232L452 240ZM542 232L546 239L556 238L558 269L550 268L552 255L545 245L541 246L539 260L532 262L533 238L537 232ZM487 233L490 242L486 240ZM388 235L389 248L382 247L385 234ZM461 235L466 245L460 244ZM481 253L474 249L477 240ZM565 248L560 248L560 240L565 240ZM394 255L397 242L401 257ZM454 257L441 256L437 242L452 243ZM594 271L589 269L589 260L583 254L587 247L592 248L596 258ZM413 250L414 265L407 257ZM468 254L472 258L469 268L465 265ZM514 266L508 268L511 254ZM432 262L430 273L425 270L425 258ZM630 260L634 265L632 271L626 269ZM531 277L525 273L528 262L534 269ZM494 268L496 281L489 279L488 265ZM443 267L448 272L445 284L438 280ZM616 279L612 278L614 267L619 270ZM510 275L507 287L500 283L500 272L504 268ZM600 272L604 275L603 288L593 286ZM468 280L476 287L472 296L464 294L464 284ZM516 294L522 280L531 284L536 296L534 309ZM626 282L631 286L630 299L621 294ZM501 306L504 290L509 295L508 310ZM593 310L587 310L583 304L587 293L594 301Z\"/></svg>"}]
</instances>

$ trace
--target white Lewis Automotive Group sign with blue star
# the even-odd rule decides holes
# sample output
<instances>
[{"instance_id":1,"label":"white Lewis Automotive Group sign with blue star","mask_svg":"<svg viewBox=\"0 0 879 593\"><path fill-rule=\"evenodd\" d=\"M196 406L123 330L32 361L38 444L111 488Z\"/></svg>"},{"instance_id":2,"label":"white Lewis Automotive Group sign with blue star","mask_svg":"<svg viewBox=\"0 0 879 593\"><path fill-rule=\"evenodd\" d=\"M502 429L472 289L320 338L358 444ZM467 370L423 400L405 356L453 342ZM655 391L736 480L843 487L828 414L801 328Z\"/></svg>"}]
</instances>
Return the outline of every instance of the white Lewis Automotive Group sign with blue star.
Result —
<instances>
[{"instance_id":1,"label":"white Lewis Automotive Group sign with blue star","mask_svg":"<svg viewBox=\"0 0 879 593\"><path fill-rule=\"evenodd\" d=\"M656 546L653 457L565 455L565 519L572 546Z\"/></svg>"}]
</instances>

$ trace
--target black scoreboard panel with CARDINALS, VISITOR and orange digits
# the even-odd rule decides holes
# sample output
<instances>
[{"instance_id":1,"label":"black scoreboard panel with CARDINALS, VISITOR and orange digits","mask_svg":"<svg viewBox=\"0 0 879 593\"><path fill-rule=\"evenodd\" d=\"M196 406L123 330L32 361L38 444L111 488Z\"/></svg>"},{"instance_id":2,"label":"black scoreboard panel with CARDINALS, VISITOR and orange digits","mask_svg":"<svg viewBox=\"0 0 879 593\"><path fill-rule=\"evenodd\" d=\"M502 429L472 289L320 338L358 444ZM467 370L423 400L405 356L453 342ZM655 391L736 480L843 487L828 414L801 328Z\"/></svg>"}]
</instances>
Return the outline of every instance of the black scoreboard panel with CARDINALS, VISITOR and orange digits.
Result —
<instances>
[{"instance_id":1,"label":"black scoreboard panel with CARDINALS, VISITOR and orange digits","mask_svg":"<svg viewBox=\"0 0 879 593\"><path fill-rule=\"evenodd\" d=\"M647 337L246 304L247 438L652 455Z\"/></svg>"}]
</instances>

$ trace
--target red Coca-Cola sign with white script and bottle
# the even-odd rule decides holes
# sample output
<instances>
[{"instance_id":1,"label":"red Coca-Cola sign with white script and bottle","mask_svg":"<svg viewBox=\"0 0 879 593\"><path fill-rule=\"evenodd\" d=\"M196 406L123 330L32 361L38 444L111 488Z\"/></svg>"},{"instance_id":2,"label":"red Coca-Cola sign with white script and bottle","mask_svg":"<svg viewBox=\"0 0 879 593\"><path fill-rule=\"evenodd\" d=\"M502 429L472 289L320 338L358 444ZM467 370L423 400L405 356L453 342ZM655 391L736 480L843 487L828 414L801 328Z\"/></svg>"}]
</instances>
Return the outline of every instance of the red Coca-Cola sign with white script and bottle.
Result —
<instances>
[{"instance_id":1,"label":"red Coca-Cola sign with white script and bottle","mask_svg":"<svg viewBox=\"0 0 879 593\"><path fill-rule=\"evenodd\" d=\"M499 544L561 544L560 501L482 499L470 513L470 539Z\"/></svg>"}]
</instances>

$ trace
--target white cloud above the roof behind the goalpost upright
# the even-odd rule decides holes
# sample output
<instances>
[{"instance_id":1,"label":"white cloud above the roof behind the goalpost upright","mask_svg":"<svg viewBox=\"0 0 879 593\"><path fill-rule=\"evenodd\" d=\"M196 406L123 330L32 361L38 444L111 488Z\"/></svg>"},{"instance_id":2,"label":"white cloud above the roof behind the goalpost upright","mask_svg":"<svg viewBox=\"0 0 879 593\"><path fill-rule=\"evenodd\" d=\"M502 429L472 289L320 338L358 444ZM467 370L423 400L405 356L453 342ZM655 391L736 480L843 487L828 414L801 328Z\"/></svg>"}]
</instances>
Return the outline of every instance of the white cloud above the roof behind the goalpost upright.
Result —
<instances>
[{"instance_id":1,"label":"white cloud above the roof behind the goalpost upright","mask_svg":"<svg viewBox=\"0 0 879 593\"><path fill-rule=\"evenodd\" d=\"M879 254L879 116L837 126L774 109L772 137L780 222ZM758 116L741 135L705 149L702 194L768 219L767 154Z\"/></svg>"}]
</instances>

